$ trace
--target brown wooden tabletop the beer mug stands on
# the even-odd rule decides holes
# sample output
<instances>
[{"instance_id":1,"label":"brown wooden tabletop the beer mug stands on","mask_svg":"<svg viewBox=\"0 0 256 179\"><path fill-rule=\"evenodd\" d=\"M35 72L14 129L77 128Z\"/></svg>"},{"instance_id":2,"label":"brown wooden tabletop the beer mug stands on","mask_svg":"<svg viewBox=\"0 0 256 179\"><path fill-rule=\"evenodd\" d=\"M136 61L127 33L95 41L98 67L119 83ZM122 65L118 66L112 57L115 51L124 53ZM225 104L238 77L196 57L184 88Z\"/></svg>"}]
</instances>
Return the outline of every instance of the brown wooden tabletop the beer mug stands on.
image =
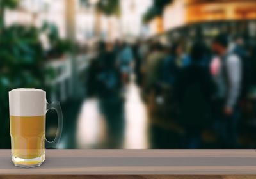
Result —
<instances>
[{"instance_id":1,"label":"brown wooden tabletop the beer mug stands on","mask_svg":"<svg viewBox=\"0 0 256 179\"><path fill-rule=\"evenodd\" d=\"M255 150L47 150L30 169L10 155L0 150L0 178L256 178Z\"/></svg>"}]
</instances>

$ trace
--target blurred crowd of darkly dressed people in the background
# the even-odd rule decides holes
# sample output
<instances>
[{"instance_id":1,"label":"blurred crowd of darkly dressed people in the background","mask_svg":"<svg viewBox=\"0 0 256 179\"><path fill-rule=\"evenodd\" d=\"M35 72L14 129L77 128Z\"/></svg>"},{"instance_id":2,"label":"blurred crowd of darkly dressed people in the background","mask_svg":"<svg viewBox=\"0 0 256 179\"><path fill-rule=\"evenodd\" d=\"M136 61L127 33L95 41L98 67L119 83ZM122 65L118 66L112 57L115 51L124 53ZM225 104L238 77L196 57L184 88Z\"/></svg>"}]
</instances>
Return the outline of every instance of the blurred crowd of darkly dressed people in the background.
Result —
<instances>
[{"instance_id":1,"label":"blurred crowd of darkly dressed people in the background","mask_svg":"<svg viewBox=\"0 0 256 179\"><path fill-rule=\"evenodd\" d=\"M202 148L205 128L214 132L219 148L241 147L238 125L256 84L255 43L225 33L211 43L196 39L191 45L100 42L88 72L88 95L123 98L135 82L150 116L162 115L183 128L179 147Z\"/></svg>"}]
</instances>

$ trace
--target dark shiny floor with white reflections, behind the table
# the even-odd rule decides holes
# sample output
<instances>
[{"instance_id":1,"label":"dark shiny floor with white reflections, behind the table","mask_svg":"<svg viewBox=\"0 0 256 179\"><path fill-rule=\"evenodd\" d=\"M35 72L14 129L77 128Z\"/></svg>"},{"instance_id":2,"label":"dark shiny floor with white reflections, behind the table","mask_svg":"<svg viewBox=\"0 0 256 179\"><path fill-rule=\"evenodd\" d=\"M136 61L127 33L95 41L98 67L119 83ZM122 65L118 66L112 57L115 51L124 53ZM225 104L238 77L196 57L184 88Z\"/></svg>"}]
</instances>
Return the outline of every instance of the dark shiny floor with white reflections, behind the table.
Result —
<instances>
[{"instance_id":1,"label":"dark shiny floor with white reflections, behind the table","mask_svg":"<svg viewBox=\"0 0 256 179\"><path fill-rule=\"evenodd\" d=\"M185 144L188 136L175 116L168 110L152 112L150 102L143 102L140 88L134 82L122 95L80 98L62 107L63 135L57 148L188 148ZM159 105L159 108L166 106ZM47 139L51 140L56 132L56 114L52 111L47 115L52 117L47 116ZM254 125L250 126L240 127L244 129L240 130L239 148L254 148L255 130ZM205 128L200 135L202 143L196 148L221 148L216 136Z\"/></svg>"}]
</instances>

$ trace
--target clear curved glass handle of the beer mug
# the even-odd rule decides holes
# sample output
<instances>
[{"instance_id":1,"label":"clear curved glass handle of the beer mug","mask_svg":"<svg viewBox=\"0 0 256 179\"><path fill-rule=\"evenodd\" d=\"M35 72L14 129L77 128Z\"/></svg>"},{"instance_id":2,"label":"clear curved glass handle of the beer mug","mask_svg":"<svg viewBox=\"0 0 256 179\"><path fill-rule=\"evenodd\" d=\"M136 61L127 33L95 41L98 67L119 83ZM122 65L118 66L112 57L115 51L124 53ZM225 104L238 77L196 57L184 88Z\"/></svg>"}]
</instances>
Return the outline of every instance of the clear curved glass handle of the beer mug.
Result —
<instances>
[{"instance_id":1,"label":"clear curved glass handle of the beer mug","mask_svg":"<svg viewBox=\"0 0 256 179\"><path fill-rule=\"evenodd\" d=\"M47 103L47 111L49 109L55 109L57 112L58 116L58 127L57 127L57 132L56 136L53 141L47 141L45 138L45 148L57 148L57 144L60 142L60 137L62 133L62 128L63 128L63 114L62 110L60 107L60 102L52 102L52 104Z\"/></svg>"}]
</instances>

